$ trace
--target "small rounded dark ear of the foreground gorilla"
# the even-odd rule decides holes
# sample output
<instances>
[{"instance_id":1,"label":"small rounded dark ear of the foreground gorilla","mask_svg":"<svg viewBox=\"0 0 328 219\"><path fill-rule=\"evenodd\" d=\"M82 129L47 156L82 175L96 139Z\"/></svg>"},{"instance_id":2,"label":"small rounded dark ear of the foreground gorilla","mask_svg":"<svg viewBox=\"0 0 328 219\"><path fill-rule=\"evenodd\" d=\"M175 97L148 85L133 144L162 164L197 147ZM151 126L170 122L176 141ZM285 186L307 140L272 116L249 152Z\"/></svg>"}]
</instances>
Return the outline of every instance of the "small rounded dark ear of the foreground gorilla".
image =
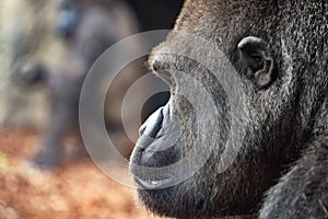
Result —
<instances>
[{"instance_id":1,"label":"small rounded dark ear of the foreground gorilla","mask_svg":"<svg viewBox=\"0 0 328 219\"><path fill-rule=\"evenodd\" d=\"M247 67L247 77L260 89L270 85L276 76L273 60L265 41L247 36L238 43L238 49Z\"/></svg>"}]
</instances>

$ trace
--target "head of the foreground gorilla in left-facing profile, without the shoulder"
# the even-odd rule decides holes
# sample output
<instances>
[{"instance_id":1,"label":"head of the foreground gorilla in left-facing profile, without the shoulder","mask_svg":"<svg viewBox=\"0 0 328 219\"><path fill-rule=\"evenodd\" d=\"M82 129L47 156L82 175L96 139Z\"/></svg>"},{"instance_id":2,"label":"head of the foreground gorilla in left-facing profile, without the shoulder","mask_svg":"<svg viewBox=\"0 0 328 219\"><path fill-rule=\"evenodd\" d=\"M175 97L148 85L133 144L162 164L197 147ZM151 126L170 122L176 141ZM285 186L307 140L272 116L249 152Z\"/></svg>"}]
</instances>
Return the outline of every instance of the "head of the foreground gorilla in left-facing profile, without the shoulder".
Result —
<instances>
[{"instance_id":1,"label":"head of the foreground gorilla in left-facing profile, without the shoulder","mask_svg":"<svg viewBox=\"0 0 328 219\"><path fill-rule=\"evenodd\" d=\"M169 84L171 100L141 127L130 163L149 209L177 218L255 214L263 192L298 157L297 76L282 60L293 39L280 30L280 9L274 1L185 3L175 31L212 42L236 83L214 76L224 65L199 42L173 32L154 49L150 65ZM183 74L206 88L213 107Z\"/></svg>"}]
</instances>

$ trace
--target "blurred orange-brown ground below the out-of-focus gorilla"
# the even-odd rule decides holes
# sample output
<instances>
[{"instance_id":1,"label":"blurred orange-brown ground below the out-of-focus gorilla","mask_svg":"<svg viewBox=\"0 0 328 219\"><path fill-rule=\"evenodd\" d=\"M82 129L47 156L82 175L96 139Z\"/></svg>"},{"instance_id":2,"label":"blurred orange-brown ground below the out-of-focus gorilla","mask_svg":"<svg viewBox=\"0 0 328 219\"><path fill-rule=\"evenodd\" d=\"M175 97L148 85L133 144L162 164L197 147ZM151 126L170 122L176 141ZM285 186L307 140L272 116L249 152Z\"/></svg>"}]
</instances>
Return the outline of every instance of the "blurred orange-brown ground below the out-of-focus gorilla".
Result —
<instances>
[{"instance_id":1,"label":"blurred orange-brown ground below the out-of-focus gorilla","mask_svg":"<svg viewBox=\"0 0 328 219\"><path fill-rule=\"evenodd\" d=\"M136 189L104 175L90 160L40 172L24 164L34 131L0 132L0 219L148 219Z\"/></svg>"}]
</instances>

